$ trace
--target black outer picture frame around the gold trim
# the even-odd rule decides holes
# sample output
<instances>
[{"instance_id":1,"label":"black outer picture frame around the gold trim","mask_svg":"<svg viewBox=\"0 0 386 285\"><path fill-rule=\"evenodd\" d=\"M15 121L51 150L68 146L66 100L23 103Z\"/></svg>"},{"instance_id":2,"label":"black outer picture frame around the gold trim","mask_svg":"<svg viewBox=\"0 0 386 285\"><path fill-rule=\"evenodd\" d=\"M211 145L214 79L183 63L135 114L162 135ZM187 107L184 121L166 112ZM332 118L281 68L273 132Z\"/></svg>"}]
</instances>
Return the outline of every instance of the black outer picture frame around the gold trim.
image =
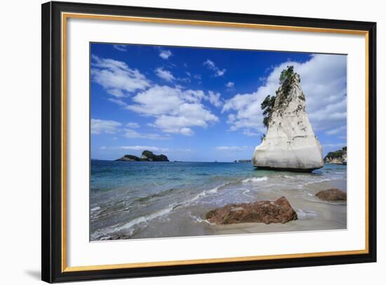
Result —
<instances>
[{"instance_id":1,"label":"black outer picture frame around the gold trim","mask_svg":"<svg viewBox=\"0 0 386 285\"><path fill-rule=\"evenodd\" d=\"M164 8L48 2L42 4L41 279L47 282L154 277L175 274L262 270L376 261L376 23L273 15L185 11ZM338 256L279 258L192 265L168 265L66 272L62 268L62 12L147 18L204 20L259 25L359 30L368 34L368 252Z\"/></svg>"}]
</instances>

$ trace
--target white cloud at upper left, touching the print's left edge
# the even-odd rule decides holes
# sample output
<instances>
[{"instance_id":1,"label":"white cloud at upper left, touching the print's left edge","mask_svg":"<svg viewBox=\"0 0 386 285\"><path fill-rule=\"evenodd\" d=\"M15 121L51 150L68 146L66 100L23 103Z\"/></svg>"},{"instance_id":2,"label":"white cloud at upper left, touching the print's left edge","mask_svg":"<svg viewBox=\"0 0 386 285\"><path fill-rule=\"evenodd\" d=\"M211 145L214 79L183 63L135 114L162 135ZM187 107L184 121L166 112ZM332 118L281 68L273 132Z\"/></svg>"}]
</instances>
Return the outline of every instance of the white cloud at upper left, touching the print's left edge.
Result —
<instances>
[{"instance_id":1,"label":"white cloud at upper left, touching the print's left edge","mask_svg":"<svg viewBox=\"0 0 386 285\"><path fill-rule=\"evenodd\" d=\"M116 98L125 97L133 91L144 90L150 81L138 69L132 69L125 62L91 56L91 79L105 88Z\"/></svg>"}]
</instances>

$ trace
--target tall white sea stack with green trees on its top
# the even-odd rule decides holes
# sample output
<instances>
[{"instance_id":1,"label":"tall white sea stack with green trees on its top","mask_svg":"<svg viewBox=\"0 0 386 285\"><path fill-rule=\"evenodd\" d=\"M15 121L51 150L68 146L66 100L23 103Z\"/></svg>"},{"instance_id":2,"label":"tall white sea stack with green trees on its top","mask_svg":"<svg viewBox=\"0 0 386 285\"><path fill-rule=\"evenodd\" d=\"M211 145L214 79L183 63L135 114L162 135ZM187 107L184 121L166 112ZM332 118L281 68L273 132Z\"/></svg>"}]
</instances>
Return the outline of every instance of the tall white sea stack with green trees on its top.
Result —
<instances>
[{"instance_id":1,"label":"tall white sea stack with green trees on its top","mask_svg":"<svg viewBox=\"0 0 386 285\"><path fill-rule=\"evenodd\" d=\"M305 110L300 76L287 67L275 96L262 102L267 133L255 148L253 166L262 169L311 172L324 166L319 140Z\"/></svg>"}]
</instances>

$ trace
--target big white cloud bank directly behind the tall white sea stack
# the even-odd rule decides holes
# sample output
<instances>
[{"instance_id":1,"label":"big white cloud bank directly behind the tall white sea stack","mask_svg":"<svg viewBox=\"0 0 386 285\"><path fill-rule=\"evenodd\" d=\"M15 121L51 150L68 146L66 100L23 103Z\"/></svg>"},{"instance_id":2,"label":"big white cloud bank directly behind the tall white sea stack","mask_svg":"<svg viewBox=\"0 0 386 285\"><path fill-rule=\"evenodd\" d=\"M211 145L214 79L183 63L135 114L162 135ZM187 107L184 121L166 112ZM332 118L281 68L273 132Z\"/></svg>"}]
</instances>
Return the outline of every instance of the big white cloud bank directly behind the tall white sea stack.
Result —
<instances>
[{"instance_id":1,"label":"big white cloud bank directly behind the tall white sea stack","mask_svg":"<svg viewBox=\"0 0 386 285\"><path fill-rule=\"evenodd\" d=\"M346 57L313 55L307 62L284 62L274 67L264 85L253 93L237 94L225 102L222 112L232 112L230 130L250 129L265 133L260 104L279 87L281 70L293 65L300 74L306 110L315 131L332 131L346 124Z\"/></svg>"}]
</instances>

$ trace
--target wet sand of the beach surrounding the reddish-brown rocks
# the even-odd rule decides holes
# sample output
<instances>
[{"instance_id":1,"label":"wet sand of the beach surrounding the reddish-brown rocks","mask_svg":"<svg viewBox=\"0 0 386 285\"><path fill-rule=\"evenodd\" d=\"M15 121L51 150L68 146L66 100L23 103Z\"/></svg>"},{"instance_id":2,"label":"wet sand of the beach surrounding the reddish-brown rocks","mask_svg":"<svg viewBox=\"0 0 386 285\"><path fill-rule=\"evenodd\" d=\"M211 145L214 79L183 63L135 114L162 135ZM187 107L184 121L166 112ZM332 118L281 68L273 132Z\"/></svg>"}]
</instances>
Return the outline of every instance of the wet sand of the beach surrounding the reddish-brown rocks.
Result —
<instances>
[{"instance_id":1,"label":"wet sand of the beach surrounding the reddish-brown rocks","mask_svg":"<svg viewBox=\"0 0 386 285\"><path fill-rule=\"evenodd\" d=\"M168 216L154 220L144 230L133 234L132 238L151 239L154 237L198 237L213 234L255 234L271 232L302 232L312 230L345 230L347 228L346 202L327 202L315 197L321 190L338 188L347 192L346 180L330 180L302 185L286 190L260 190L253 194L253 201L274 201L286 197L298 213L298 220L288 223L240 223L234 225L213 225L205 220L205 215L213 209L206 203L176 208ZM237 191L237 190L235 190ZM127 237L124 237L127 238Z\"/></svg>"}]
</instances>

